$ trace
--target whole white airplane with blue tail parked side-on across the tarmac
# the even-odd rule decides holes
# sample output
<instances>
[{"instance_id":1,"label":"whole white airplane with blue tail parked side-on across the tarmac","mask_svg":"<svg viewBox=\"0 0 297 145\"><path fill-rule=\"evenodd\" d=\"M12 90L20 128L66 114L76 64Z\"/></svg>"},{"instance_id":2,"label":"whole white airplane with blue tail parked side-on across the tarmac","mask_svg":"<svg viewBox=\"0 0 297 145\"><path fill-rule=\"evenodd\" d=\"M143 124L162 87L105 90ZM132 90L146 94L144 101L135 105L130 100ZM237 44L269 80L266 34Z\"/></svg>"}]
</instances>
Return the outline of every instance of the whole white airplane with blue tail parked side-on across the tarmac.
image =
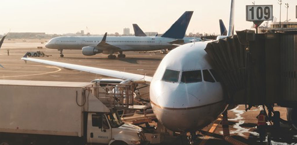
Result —
<instances>
[{"instance_id":1,"label":"whole white airplane with blue tail parked side-on across the tarmac","mask_svg":"<svg viewBox=\"0 0 297 145\"><path fill-rule=\"evenodd\" d=\"M193 11L186 11L161 37L55 37L46 48L58 49L63 57L63 49L79 49L83 55L92 56L98 53L109 54L109 59L115 59L113 53L119 52L119 58L126 57L123 51L153 51L176 47L187 31Z\"/></svg>"}]
</instances>

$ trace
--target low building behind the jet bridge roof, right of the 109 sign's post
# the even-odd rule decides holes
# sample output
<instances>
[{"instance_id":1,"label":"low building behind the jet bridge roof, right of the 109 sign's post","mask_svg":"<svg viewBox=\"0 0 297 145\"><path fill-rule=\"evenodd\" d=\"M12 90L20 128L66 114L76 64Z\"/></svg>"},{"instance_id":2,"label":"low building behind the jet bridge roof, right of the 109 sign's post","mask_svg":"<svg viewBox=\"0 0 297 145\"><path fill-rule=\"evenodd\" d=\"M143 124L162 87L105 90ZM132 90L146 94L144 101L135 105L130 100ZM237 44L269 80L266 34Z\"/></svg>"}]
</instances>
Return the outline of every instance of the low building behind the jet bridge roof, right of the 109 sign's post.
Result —
<instances>
[{"instance_id":1,"label":"low building behind the jet bridge roof, right of the 109 sign's post","mask_svg":"<svg viewBox=\"0 0 297 145\"><path fill-rule=\"evenodd\" d=\"M272 22L266 27L259 27L258 33L265 33L268 30L275 31L297 31L297 22Z\"/></svg>"}]
</instances>

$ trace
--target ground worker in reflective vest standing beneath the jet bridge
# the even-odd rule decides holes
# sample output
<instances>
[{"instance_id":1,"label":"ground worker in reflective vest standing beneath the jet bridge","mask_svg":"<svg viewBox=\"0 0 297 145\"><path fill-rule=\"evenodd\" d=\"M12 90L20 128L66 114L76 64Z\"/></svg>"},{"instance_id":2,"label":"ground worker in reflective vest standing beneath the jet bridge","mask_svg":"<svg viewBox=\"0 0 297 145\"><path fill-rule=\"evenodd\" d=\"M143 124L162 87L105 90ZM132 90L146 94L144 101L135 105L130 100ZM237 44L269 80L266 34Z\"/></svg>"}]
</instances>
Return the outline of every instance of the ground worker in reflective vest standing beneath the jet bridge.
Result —
<instances>
[{"instance_id":1,"label":"ground worker in reflective vest standing beneath the jet bridge","mask_svg":"<svg viewBox=\"0 0 297 145\"><path fill-rule=\"evenodd\" d=\"M257 131L260 134L260 141L262 142L265 139L266 128L267 128L267 116L264 110L260 111L260 114L257 116Z\"/></svg>"}]
</instances>

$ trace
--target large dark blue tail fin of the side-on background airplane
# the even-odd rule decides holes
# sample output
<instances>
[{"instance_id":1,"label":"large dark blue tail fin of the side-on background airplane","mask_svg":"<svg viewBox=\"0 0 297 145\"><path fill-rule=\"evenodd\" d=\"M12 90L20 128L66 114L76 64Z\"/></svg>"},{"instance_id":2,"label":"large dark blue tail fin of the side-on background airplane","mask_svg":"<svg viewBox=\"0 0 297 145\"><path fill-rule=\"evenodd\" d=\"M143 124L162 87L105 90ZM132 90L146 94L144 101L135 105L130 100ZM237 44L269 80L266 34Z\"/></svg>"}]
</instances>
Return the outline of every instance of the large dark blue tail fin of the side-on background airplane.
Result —
<instances>
[{"instance_id":1,"label":"large dark blue tail fin of the side-on background airplane","mask_svg":"<svg viewBox=\"0 0 297 145\"><path fill-rule=\"evenodd\" d=\"M184 12L184 14L181 15L181 17L179 17L178 20L161 37L183 39L192 15L193 11Z\"/></svg>"}]
</instances>

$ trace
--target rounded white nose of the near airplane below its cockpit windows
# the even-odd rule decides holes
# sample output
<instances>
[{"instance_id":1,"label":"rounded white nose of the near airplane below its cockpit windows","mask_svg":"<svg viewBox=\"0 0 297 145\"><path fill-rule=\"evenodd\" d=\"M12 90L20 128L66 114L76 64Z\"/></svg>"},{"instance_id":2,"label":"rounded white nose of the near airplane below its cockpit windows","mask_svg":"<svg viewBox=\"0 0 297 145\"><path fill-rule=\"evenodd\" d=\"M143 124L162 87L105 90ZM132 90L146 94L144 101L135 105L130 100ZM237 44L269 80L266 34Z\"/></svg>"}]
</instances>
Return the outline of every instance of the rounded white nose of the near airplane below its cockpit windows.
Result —
<instances>
[{"instance_id":1,"label":"rounded white nose of the near airplane below its cockpit windows","mask_svg":"<svg viewBox=\"0 0 297 145\"><path fill-rule=\"evenodd\" d=\"M152 85L153 84L153 85ZM198 130L225 110L222 92L203 83L151 82L151 105L157 119L173 131ZM217 92L217 93L216 93ZM218 93L220 92L220 93Z\"/></svg>"}]
</instances>

